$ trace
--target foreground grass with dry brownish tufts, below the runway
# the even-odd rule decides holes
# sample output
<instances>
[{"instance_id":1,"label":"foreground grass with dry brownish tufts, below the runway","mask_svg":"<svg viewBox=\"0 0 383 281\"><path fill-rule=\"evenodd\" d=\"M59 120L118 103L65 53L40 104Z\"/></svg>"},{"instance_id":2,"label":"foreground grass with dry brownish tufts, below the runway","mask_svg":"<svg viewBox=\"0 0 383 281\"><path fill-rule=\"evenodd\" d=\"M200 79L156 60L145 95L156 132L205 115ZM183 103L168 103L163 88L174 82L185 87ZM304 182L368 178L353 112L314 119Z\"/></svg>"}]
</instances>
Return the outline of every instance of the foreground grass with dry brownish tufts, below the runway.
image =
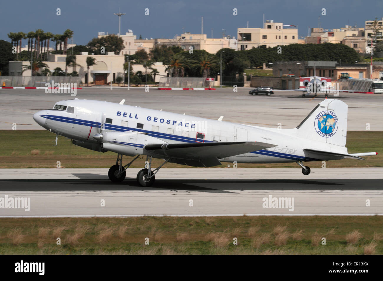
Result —
<instances>
[{"instance_id":1,"label":"foreground grass with dry brownish tufts, below the runway","mask_svg":"<svg viewBox=\"0 0 383 281\"><path fill-rule=\"evenodd\" d=\"M383 216L3 218L0 254L381 255L382 224Z\"/></svg>"}]
</instances>

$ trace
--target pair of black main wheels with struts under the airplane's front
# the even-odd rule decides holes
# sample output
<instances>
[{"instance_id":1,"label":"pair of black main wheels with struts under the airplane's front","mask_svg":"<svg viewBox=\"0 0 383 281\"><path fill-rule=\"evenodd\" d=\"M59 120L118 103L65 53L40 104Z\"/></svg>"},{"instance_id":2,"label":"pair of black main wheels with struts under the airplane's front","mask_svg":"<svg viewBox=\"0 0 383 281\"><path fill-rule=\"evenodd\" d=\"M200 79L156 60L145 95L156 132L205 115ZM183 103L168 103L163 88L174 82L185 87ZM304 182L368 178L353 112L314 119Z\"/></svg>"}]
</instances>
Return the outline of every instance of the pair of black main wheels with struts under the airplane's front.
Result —
<instances>
[{"instance_id":1,"label":"pair of black main wheels with struts under the airplane's front","mask_svg":"<svg viewBox=\"0 0 383 281\"><path fill-rule=\"evenodd\" d=\"M131 162L126 164L125 166L122 166L122 154L117 154L117 160L116 165L113 165L109 168L108 176L109 179L112 182L122 182L126 177L126 169L129 168L129 166L137 159L139 158L139 155L136 156ZM142 169L137 174L137 182L141 186L149 187L152 184L154 184L155 177L154 175L157 174L159 169L161 169L162 166L165 165L165 163L169 161L169 159L166 159L164 163L162 163L158 168L151 170L151 164L152 164L152 156L146 156L146 162L147 162L147 168Z\"/></svg>"}]
</instances>

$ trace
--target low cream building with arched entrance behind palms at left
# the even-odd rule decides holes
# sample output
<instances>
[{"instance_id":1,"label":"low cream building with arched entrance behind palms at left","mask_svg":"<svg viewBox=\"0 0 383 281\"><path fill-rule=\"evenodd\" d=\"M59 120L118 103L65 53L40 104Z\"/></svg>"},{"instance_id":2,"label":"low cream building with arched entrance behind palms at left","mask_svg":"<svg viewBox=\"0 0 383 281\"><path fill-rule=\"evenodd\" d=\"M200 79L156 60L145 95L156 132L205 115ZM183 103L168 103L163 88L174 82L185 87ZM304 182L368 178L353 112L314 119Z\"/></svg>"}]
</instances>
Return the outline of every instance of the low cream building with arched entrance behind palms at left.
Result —
<instances>
[{"instance_id":1,"label":"low cream building with arched entrance behind palms at left","mask_svg":"<svg viewBox=\"0 0 383 281\"><path fill-rule=\"evenodd\" d=\"M94 82L94 84L106 84L111 80L116 81L118 76L123 77L125 57L123 55L115 55L113 52L108 52L106 55L88 55L83 52L81 55L76 56L76 63L80 66L68 67L68 73L77 71L82 83ZM87 75L87 57L95 58L96 64L89 68L89 75ZM46 63L51 72L56 67L60 67L65 71L65 58L66 55L48 55ZM9 62L9 75L23 75L31 76L31 70L26 70L21 73L22 65L28 65L30 62ZM41 73L43 69L39 69ZM88 77L88 78L87 78Z\"/></svg>"}]
</instances>

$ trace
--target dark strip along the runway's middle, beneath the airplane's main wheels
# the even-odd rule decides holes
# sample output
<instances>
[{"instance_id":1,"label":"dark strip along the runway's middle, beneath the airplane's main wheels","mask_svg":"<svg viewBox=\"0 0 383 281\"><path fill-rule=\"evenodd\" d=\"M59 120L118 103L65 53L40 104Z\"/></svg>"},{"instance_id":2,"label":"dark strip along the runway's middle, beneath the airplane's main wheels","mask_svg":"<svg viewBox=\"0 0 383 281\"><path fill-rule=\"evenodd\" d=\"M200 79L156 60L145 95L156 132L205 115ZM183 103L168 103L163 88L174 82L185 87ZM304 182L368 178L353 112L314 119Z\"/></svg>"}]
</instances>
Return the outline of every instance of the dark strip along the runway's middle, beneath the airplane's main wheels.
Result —
<instances>
[{"instance_id":1,"label":"dark strip along the runway's middle, beneath the airplane's main wheels","mask_svg":"<svg viewBox=\"0 0 383 281\"><path fill-rule=\"evenodd\" d=\"M383 179L156 179L152 187L141 187L135 178L113 183L105 176L98 176L96 179L0 180L0 191L134 191L161 188L236 193L235 190L379 190L383 182Z\"/></svg>"}]
</instances>

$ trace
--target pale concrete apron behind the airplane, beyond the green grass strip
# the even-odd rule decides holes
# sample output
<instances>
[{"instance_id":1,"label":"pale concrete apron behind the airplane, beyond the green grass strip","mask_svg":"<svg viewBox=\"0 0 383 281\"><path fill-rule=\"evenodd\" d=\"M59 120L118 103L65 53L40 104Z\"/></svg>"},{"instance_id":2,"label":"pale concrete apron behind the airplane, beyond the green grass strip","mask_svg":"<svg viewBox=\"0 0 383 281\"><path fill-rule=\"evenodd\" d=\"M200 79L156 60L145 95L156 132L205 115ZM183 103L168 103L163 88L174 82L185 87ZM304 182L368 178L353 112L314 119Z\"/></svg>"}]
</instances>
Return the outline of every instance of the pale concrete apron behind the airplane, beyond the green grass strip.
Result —
<instances>
[{"instance_id":1,"label":"pale concrete apron behind the airplane, beyond the green grass strip","mask_svg":"<svg viewBox=\"0 0 383 281\"><path fill-rule=\"evenodd\" d=\"M217 88L215 91L161 91L150 88L83 88L75 97L70 94L46 94L43 89L0 89L0 130L41 130L32 115L42 109L49 109L63 99L95 99L120 102L150 109L164 110L197 117L218 119L234 123L244 123L261 127L295 128L321 102L324 97L302 98L301 92L281 92L275 90L272 96L250 96L253 88ZM347 130L383 130L383 110L381 94L340 93L337 97L348 106Z\"/></svg>"}]
</instances>

